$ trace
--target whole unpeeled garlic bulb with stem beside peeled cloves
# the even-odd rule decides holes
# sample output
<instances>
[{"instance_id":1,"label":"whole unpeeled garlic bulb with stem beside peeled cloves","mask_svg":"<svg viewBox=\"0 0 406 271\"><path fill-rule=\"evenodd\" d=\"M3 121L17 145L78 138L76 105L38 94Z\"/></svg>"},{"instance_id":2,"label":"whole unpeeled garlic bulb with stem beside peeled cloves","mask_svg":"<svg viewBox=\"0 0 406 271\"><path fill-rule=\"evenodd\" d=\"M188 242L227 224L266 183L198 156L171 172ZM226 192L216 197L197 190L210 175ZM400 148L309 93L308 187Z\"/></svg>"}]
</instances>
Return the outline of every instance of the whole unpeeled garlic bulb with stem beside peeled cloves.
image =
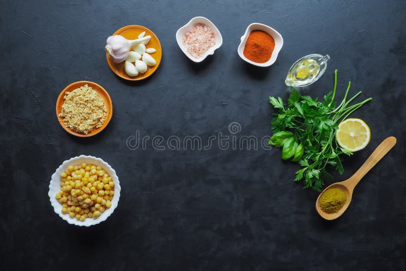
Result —
<instances>
[{"instance_id":1,"label":"whole unpeeled garlic bulb with stem beside peeled cloves","mask_svg":"<svg viewBox=\"0 0 406 271\"><path fill-rule=\"evenodd\" d=\"M128 56L131 46L151 39L151 36L142 37L137 40L127 40L123 36L114 35L107 39L106 52L113 59L113 62L120 63Z\"/></svg>"}]
</instances>

